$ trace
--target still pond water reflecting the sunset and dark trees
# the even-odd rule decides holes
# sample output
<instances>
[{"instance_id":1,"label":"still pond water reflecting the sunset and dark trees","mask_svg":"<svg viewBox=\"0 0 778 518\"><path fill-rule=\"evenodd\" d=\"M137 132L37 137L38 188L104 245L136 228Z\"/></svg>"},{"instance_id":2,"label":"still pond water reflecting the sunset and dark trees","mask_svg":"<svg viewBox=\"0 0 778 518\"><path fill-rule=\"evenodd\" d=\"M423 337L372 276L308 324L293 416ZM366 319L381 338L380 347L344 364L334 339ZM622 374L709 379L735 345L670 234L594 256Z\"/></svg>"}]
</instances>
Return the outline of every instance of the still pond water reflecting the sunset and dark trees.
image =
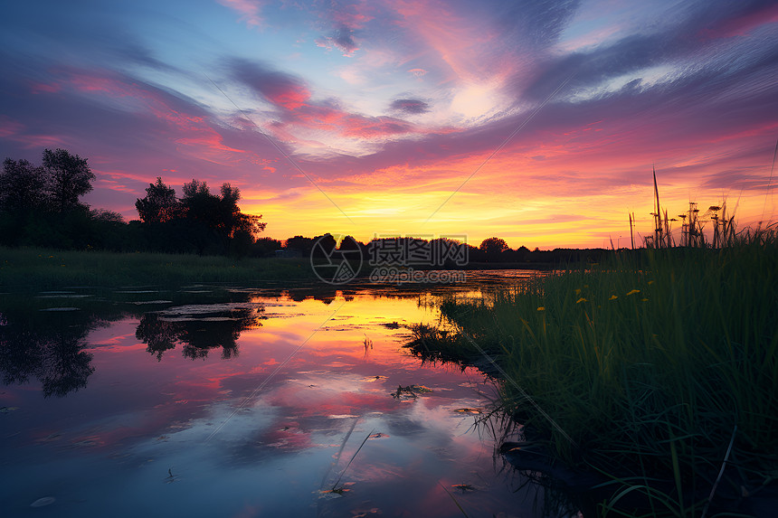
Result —
<instances>
[{"instance_id":1,"label":"still pond water reflecting the sunset and dark trees","mask_svg":"<svg viewBox=\"0 0 778 518\"><path fill-rule=\"evenodd\" d=\"M433 295L3 295L0 515L554 515L476 424L494 384L403 349Z\"/></svg>"}]
</instances>

